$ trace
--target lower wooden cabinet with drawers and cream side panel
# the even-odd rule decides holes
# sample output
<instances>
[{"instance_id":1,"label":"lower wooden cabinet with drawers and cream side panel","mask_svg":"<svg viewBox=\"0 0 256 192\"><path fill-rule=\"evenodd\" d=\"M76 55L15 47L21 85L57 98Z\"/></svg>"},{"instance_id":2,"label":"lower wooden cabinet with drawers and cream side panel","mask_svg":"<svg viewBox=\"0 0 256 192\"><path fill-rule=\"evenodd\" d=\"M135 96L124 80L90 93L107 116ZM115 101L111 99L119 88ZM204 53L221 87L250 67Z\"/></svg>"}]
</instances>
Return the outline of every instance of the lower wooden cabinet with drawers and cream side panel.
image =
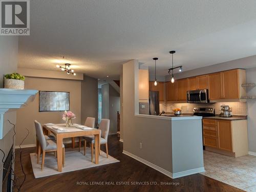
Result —
<instances>
[{"instance_id":1,"label":"lower wooden cabinet with drawers and cream side panel","mask_svg":"<svg viewBox=\"0 0 256 192\"><path fill-rule=\"evenodd\" d=\"M203 144L207 151L248 155L247 120L203 119Z\"/></svg>"}]
</instances>

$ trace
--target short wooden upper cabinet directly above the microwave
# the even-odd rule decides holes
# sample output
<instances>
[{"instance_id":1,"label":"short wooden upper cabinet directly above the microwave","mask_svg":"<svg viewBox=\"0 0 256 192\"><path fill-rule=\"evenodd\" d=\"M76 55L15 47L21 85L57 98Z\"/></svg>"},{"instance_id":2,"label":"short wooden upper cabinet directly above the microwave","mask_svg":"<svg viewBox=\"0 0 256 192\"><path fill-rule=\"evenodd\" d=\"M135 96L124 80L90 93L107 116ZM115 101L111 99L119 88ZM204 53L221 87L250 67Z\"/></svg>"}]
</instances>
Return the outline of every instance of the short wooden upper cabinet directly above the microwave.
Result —
<instances>
[{"instance_id":1,"label":"short wooden upper cabinet directly above the microwave","mask_svg":"<svg viewBox=\"0 0 256 192\"><path fill-rule=\"evenodd\" d=\"M208 75L188 78L188 90L208 89Z\"/></svg>"}]
</instances>

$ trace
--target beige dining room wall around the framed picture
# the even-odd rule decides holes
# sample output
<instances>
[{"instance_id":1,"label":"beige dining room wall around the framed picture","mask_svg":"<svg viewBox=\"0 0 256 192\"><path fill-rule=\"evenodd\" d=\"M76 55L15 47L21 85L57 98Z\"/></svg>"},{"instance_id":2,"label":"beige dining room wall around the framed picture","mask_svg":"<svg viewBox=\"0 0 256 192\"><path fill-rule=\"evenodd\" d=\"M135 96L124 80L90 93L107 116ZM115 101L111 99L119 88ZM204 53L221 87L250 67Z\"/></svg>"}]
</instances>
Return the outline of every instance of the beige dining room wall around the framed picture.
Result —
<instances>
[{"instance_id":1,"label":"beige dining room wall around the framed picture","mask_svg":"<svg viewBox=\"0 0 256 192\"><path fill-rule=\"evenodd\" d=\"M76 114L74 123L80 123L81 119L81 81L63 80L50 78L26 77L25 89L35 89L38 91L66 91L70 92L70 111ZM29 130L29 136L24 141L25 144L35 144L34 120L44 123L64 123L61 119L63 112L39 112L39 94L36 95L34 102L29 103L26 108L17 111L17 137L18 145L26 136L26 129Z\"/></svg>"}]
</instances>

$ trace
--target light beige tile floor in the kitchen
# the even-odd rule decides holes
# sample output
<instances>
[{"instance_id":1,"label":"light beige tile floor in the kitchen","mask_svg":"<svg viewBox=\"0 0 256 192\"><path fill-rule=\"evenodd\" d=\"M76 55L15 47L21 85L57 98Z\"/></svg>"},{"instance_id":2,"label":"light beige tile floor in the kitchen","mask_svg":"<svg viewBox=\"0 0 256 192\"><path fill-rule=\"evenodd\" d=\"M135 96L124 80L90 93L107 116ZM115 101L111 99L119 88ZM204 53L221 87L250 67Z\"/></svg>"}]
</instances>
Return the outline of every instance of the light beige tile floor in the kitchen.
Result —
<instances>
[{"instance_id":1,"label":"light beige tile floor in the kitchen","mask_svg":"<svg viewBox=\"0 0 256 192\"><path fill-rule=\"evenodd\" d=\"M256 192L256 156L234 158L204 151L204 168L201 174L207 177Z\"/></svg>"}]
</instances>

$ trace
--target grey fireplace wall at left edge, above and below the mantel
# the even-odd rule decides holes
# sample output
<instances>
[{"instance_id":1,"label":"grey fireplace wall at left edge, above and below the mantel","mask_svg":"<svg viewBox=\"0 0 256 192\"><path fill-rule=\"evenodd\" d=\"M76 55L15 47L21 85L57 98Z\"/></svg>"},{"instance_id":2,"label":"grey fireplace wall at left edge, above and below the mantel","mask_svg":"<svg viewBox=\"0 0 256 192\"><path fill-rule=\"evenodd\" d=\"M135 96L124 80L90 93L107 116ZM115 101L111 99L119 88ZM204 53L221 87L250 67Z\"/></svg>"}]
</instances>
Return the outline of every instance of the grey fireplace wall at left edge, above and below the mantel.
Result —
<instances>
[{"instance_id":1,"label":"grey fireplace wall at left edge, above and below the mantel","mask_svg":"<svg viewBox=\"0 0 256 192\"><path fill-rule=\"evenodd\" d=\"M18 63L18 37L17 36L0 36L0 88L4 87L4 81L3 77L7 73L13 73L17 72L17 63ZM12 119L16 121L16 112L12 113ZM15 123L13 121L13 123ZM17 128L16 128L17 130ZM3 139L0 139L0 148L8 155L11 146L12 146L12 137L13 132L10 131L5 135ZM15 142L15 138L14 138ZM15 145L15 143L13 144ZM3 161L6 159L3 159L4 155L2 152L0 152L0 191L2 191L2 181L3 181ZM14 167L14 165L13 165Z\"/></svg>"}]
</instances>

